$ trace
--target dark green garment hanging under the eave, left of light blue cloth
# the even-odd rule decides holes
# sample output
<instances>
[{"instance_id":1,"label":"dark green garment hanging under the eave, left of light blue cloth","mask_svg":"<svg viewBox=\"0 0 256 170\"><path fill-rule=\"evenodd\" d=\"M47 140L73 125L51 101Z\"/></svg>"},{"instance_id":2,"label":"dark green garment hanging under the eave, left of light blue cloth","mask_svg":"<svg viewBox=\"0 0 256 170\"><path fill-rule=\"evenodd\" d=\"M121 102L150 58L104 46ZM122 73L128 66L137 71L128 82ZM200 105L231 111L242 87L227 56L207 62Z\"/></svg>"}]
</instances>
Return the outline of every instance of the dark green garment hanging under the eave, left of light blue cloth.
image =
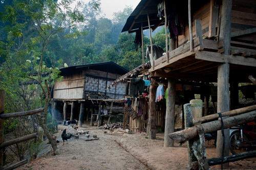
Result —
<instances>
[{"instance_id":1,"label":"dark green garment hanging under the eave, left of light blue cloth","mask_svg":"<svg viewBox=\"0 0 256 170\"><path fill-rule=\"evenodd\" d=\"M134 98L137 98L139 93L142 94L144 91L145 87L145 82L138 78L132 78L131 83L130 83L130 95L132 95Z\"/></svg>"}]
</instances>

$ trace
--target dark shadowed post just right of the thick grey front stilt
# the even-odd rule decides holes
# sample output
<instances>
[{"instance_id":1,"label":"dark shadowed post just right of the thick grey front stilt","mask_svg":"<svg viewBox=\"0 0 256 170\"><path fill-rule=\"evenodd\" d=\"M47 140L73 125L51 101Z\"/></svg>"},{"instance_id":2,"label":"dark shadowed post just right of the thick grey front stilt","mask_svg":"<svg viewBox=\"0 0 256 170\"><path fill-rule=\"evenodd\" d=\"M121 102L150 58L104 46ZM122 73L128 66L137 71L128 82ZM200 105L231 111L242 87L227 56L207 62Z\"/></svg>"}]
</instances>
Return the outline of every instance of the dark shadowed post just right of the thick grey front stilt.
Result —
<instances>
[{"instance_id":1,"label":"dark shadowed post just right of the thick grey front stilt","mask_svg":"<svg viewBox=\"0 0 256 170\"><path fill-rule=\"evenodd\" d=\"M239 104L238 82L230 82L230 110L237 109L238 104Z\"/></svg>"}]
</instances>

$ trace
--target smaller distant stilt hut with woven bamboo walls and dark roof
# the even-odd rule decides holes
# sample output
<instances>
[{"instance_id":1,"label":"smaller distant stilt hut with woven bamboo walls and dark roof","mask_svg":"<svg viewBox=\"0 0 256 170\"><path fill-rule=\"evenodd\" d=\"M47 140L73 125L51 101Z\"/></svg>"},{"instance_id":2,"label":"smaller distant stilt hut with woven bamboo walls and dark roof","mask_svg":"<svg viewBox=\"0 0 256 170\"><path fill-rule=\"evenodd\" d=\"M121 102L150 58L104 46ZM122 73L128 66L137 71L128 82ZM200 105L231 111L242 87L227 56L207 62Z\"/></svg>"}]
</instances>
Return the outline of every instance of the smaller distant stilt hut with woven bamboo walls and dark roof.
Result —
<instances>
[{"instance_id":1,"label":"smaller distant stilt hut with woven bamboo walls and dark roof","mask_svg":"<svg viewBox=\"0 0 256 170\"><path fill-rule=\"evenodd\" d=\"M88 121L90 116L92 119L102 105L122 101L125 94L125 83L107 89L113 80L127 72L112 61L71 66L60 71L63 79L55 82L53 89L52 108L57 120L78 119L78 125L82 127L83 120Z\"/></svg>"}]
</instances>

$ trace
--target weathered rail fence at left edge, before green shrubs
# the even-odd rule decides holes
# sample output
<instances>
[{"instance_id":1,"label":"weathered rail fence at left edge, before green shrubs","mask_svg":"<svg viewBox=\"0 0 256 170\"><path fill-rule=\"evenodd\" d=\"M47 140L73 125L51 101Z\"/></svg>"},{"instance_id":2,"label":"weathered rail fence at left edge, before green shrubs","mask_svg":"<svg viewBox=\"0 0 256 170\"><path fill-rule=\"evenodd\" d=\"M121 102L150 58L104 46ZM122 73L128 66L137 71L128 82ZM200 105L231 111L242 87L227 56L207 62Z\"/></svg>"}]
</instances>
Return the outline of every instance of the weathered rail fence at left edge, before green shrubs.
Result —
<instances>
[{"instance_id":1,"label":"weathered rail fence at left edge, before green shrubs","mask_svg":"<svg viewBox=\"0 0 256 170\"><path fill-rule=\"evenodd\" d=\"M0 89L0 169L14 169L16 167L19 167L25 163L28 163L28 160L22 160L20 162L17 162L15 164L12 164L6 168L3 168L4 164L4 148L8 147L12 144L16 144L19 142L23 142L26 140L30 140L33 138L38 137L37 133L33 133L30 135L26 135L23 137L19 137L13 140L9 140L4 142L4 119L5 118L10 118L10 117L19 117L19 116L27 116L27 115L32 115L32 114L37 114L37 113L42 113L44 112L45 108L39 108L35 110L30 110L30 111L24 111L24 112L15 112L15 113L4 113L4 103L5 103L5 90Z\"/></svg>"}]
</instances>

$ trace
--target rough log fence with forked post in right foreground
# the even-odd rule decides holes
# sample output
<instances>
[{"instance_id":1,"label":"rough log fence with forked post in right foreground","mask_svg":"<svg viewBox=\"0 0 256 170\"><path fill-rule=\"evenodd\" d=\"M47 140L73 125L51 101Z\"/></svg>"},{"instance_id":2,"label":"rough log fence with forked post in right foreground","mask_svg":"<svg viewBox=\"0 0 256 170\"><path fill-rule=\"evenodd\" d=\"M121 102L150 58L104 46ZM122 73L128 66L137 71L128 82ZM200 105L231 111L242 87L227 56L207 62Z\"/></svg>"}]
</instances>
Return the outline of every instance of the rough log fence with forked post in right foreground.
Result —
<instances>
[{"instance_id":1,"label":"rough log fence with forked post in right foreground","mask_svg":"<svg viewBox=\"0 0 256 170\"><path fill-rule=\"evenodd\" d=\"M184 105L184 114L186 129L171 133L168 136L177 143L184 143L187 141L189 167L188 169L210 169L209 166L211 165L256 157L256 151L249 151L236 155L226 156L223 158L206 159L204 138L204 133L221 130L221 126L226 129L255 121L256 105L221 113L222 116L230 116L223 119L223 124L221 123L221 120L215 120L212 122L198 125L198 123L218 118L219 114L216 113L193 119L193 115L195 115L195 109L191 109L191 104ZM195 126L195 124L197 124L197 126Z\"/></svg>"}]
</instances>

